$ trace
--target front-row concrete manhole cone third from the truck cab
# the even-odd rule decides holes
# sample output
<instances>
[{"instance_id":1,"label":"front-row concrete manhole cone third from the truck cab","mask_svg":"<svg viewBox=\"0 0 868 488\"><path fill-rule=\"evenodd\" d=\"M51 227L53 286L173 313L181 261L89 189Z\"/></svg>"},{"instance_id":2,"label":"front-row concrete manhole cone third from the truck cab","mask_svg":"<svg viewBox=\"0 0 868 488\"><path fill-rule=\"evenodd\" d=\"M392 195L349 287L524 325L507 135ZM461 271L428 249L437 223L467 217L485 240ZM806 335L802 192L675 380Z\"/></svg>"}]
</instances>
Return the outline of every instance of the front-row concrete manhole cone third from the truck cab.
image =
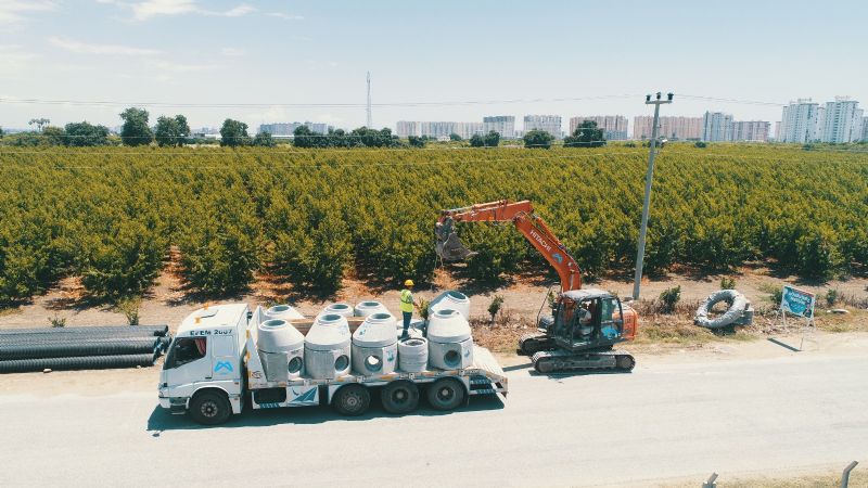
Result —
<instances>
[{"instance_id":1,"label":"front-row concrete manhole cone third from the truck cab","mask_svg":"<svg viewBox=\"0 0 868 488\"><path fill-rule=\"evenodd\" d=\"M391 313L373 313L353 333L353 370L369 376L395 371L398 362L398 339L395 318Z\"/></svg>"}]
</instances>

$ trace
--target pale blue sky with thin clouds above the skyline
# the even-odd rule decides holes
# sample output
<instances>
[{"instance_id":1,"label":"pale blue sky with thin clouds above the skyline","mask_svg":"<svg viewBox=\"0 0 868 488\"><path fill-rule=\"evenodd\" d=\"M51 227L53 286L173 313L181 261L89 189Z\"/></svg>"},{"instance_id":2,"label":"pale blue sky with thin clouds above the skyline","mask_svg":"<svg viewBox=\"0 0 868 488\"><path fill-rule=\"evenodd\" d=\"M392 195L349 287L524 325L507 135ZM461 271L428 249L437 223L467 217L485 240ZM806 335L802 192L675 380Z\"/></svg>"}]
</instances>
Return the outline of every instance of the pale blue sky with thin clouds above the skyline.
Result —
<instances>
[{"instance_id":1,"label":"pale blue sky with thin clouds above the skyline","mask_svg":"<svg viewBox=\"0 0 868 488\"><path fill-rule=\"evenodd\" d=\"M112 128L136 105L152 124L355 128L366 72L373 126L393 130L486 115L631 124L658 91L676 93L661 115L774 123L799 98L868 105L866 31L864 0L0 0L0 127Z\"/></svg>"}]
</instances>

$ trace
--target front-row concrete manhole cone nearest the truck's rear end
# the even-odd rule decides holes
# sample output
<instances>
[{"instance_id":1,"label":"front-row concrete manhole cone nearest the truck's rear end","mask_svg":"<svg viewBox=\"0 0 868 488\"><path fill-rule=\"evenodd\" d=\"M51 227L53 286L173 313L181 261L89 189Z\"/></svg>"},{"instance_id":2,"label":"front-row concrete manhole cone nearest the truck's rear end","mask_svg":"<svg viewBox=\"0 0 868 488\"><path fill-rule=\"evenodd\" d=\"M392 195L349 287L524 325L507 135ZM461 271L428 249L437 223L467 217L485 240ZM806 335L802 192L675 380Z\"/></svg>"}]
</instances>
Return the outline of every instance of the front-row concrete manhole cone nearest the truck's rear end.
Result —
<instances>
[{"instance_id":1,"label":"front-row concrete manhole cone nearest the truck's rear end","mask_svg":"<svg viewBox=\"0 0 868 488\"><path fill-rule=\"evenodd\" d=\"M473 364L470 323L457 310L441 309L431 316L427 341L427 360L433 368L456 370Z\"/></svg>"}]
</instances>

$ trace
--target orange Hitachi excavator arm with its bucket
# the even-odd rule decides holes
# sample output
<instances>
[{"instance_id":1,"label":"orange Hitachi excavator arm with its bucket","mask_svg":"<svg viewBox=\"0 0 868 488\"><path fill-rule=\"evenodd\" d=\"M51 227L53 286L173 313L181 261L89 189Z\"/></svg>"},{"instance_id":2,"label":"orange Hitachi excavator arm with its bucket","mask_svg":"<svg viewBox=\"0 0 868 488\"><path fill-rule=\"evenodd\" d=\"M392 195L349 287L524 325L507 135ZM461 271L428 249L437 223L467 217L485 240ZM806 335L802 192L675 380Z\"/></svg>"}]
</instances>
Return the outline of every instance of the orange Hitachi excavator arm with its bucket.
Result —
<instances>
[{"instance_id":1,"label":"orange Hitachi excavator arm with its bucket","mask_svg":"<svg viewBox=\"0 0 868 488\"><path fill-rule=\"evenodd\" d=\"M436 252L445 261L467 259L473 253L461 244L454 231L456 222L512 222L519 232L558 271L561 292L582 287L582 271L566 247L536 214L529 201L510 202L501 200L470 207L442 210L434 229L437 237Z\"/></svg>"}]
</instances>

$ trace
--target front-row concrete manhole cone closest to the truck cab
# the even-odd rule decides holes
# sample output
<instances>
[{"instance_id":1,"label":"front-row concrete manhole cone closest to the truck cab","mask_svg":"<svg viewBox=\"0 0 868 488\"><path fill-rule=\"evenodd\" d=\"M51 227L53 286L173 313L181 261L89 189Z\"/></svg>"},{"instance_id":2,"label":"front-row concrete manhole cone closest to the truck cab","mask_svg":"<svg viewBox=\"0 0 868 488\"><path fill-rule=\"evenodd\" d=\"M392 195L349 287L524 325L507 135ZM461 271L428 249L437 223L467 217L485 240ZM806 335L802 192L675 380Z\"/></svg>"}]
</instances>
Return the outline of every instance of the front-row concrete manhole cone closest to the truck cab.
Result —
<instances>
[{"instance_id":1,"label":"front-row concrete manhole cone closest to the truck cab","mask_svg":"<svg viewBox=\"0 0 868 488\"><path fill-rule=\"evenodd\" d=\"M289 322L269 319L257 328L257 348L269 382L285 382L302 375L305 336Z\"/></svg>"}]
</instances>

